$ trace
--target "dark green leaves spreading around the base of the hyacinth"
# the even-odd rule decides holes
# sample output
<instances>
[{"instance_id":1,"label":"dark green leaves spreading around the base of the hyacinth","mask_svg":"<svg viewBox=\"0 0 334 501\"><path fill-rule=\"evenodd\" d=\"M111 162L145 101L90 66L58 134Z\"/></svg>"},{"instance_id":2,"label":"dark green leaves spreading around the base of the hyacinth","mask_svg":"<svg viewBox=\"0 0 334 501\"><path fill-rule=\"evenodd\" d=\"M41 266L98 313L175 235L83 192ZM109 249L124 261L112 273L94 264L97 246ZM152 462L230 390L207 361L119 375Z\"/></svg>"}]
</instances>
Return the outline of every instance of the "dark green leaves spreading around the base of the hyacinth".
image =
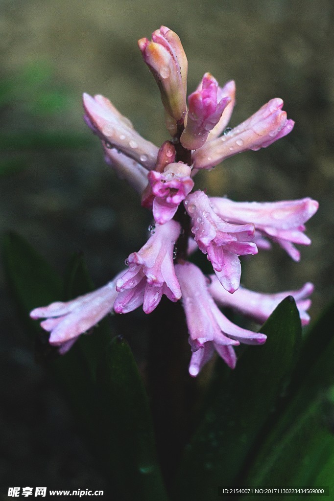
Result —
<instances>
[{"instance_id":1,"label":"dark green leaves spreading around the base of the hyacinth","mask_svg":"<svg viewBox=\"0 0 334 501\"><path fill-rule=\"evenodd\" d=\"M71 258L64 279L14 233L5 237L3 256L26 323L35 306L93 287L81 254ZM303 341L288 297L261 327L264 346L246 349L235 371L217 363L202 417L189 416L197 429L169 485L170 499L215 499L218 486L334 487L333 310L329 305ZM147 395L129 346L114 331L105 319L63 357L55 348L39 349L39 359L68 396L117 499L167 499ZM48 346L36 322L28 321L27 332L39 348L42 339Z\"/></svg>"}]
</instances>

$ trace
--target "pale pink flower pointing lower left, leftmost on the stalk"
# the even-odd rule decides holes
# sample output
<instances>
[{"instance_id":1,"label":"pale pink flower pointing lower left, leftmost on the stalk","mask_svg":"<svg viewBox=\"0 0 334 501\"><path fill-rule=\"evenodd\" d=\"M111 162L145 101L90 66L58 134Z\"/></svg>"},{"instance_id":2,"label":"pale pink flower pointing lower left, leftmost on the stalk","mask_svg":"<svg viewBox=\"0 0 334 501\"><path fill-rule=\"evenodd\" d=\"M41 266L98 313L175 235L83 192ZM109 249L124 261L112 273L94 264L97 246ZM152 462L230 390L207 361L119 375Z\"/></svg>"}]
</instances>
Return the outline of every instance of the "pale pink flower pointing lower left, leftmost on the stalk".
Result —
<instances>
[{"instance_id":1,"label":"pale pink flower pointing lower left, leftmost on the stalk","mask_svg":"<svg viewBox=\"0 0 334 501\"><path fill-rule=\"evenodd\" d=\"M49 342L59 346L60 354L66 353L80 334L94 327L103 317L113 311L117 296L116 282L122 271L111 282L96 291L89 292L66 303L56 302L49 306L35 308L32 319L45 318L41 327L50 332Z\"/></svg>"}]
</instances>

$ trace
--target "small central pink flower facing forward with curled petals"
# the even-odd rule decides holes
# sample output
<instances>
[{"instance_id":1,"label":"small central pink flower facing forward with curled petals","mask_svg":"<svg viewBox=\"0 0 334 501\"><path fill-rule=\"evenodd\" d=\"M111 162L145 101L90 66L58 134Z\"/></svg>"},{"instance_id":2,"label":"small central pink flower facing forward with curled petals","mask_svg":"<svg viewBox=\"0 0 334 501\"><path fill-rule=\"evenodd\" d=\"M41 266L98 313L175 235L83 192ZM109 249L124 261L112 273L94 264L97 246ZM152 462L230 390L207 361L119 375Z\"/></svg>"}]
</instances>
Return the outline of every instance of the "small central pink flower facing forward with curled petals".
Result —
<instances>
[{"instance_id":1,"label":"small central pink flower facing forward with curled petals","mask_svg":"<svg viewBox=\"0 0 334 501\"><path fill-rule=\"evenodd\" d=\"M151 170L148 181L154 195L153 216L159 224L172 219L179 204L194 187L191 167L183 162L170 163L163 172Z\"/></svg>"}]
</instances>

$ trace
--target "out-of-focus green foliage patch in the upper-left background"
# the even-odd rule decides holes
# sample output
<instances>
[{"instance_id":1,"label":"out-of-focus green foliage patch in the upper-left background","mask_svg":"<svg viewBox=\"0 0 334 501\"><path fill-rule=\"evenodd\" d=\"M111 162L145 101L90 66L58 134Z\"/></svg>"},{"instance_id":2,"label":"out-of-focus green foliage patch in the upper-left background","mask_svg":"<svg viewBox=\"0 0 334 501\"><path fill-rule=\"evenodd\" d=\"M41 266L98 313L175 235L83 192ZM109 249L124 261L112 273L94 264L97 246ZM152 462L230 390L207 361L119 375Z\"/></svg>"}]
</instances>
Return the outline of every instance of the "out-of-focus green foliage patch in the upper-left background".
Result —
<instances>
[{"instance_id":1,"label":"out-of-focus green foliage patch in the upper-left background","mask_svg":"<svg viewBox=\"0 0 334 501\"><path fill-rule=\"evenodd\" d=\"M55 80L49 64L30 64L0 78L0 176L25 168L28 151L91 144L90 135L63 130L70 107L70 91Z\"/></svg>"}]
</instances>

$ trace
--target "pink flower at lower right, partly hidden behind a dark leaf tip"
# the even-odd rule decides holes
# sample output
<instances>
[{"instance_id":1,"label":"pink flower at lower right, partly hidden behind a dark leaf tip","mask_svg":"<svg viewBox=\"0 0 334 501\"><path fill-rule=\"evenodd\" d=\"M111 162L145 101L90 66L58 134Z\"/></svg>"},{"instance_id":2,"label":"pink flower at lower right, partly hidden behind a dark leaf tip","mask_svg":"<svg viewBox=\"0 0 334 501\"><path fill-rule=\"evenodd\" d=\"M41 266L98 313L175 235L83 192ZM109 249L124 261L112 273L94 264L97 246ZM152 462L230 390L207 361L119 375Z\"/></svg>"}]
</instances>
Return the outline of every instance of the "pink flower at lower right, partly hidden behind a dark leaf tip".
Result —
<instances>
[{"instance_id":1,"label":"pink flower at lower right, partly hidden behind a dark leaf tip","mask_svg":"<svg viewBox=\"0 0 334 501\"><path fill-rule=\"evenodd\" d=\"M229 294L223 289L215 275L211 275L210 279L209 291L219 305L238 310L240 313L254 319L256 322L265 322L283 299L287 296L292 296L299 311L301 324L307 325L309 323L310 319L306 311L311 306L311 300L308 299L308 296L312 294L314 290L314 286L310 282L304 284L303 287L297 291L264 294L239 287L234 294Z\"/></svg>"}]
</instances>

